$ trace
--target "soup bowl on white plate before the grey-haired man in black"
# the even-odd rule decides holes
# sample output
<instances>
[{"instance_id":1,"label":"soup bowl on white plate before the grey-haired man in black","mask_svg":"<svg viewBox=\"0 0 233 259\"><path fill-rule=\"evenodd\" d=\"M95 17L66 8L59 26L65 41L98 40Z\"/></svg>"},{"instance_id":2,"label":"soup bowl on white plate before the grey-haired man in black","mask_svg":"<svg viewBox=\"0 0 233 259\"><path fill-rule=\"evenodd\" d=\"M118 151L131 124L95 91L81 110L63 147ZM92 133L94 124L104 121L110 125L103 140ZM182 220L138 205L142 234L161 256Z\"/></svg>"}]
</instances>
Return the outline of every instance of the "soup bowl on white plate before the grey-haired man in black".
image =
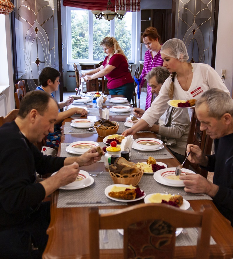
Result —
<instances>
[{"instance_id":1,"label":"soup bowl on white plate before the grey-haired man in black","mask_svg":"<svg viewBox=\"0 0 233 259\"><path fill-rule=\"evenodd\" d=\"M176 167L160 169L154 173L154 179L156 180L156 182L167 186L184 187L183 181L179 179L179 176L177 178L175 171L176 171ZM181 175L182 174L184 175L185 172L195 174L195 172L193 172L192 170L182 168Z\"/></svg>"}]
</instances>

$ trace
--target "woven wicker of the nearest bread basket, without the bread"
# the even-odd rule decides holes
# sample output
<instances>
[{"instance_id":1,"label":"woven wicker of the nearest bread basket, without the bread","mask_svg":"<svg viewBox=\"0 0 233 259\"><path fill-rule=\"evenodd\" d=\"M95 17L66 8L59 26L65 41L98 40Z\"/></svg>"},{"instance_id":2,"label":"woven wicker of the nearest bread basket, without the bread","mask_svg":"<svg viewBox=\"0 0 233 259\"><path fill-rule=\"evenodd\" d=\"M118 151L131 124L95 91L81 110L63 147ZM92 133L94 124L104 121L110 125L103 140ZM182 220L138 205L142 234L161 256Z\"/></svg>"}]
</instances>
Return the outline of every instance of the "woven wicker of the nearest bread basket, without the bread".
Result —
<instances>
[{"instance_id":1,"label":"woven wicker of the nearest bread basket, without the bread","mask_svg":"<svg viewBox=\"0 0 233 259\"><path fill-rule=\"evenodd\" d=\"M144 167L140 164L135 164L130 162L130 164L136 166L137 168L140 169L140 172L137 173L133 173L133 174L124 174L124 175L120 175L120 174L114 174L113 172L110 171L110 168L108 168L110 176L112 177L112 181L114 182L114 184L132 184L133 186L136 186L141 178L142 175L144 173Z\"/></svg>"}]
</instances>

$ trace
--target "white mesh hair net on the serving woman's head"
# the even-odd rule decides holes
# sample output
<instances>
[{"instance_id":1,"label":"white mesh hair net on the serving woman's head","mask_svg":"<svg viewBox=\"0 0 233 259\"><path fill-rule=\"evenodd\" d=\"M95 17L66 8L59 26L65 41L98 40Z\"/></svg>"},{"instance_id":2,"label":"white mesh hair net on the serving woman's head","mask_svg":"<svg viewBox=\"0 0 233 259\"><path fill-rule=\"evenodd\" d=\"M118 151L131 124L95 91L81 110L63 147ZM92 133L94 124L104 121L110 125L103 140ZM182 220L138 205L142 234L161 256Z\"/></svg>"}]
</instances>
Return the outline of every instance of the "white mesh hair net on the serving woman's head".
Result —
<instances>
[{"instance_id":1,"label":"white mesh hair net on the serving woman's head","mask_svg":"<svg viewBox=\"0 0 233 259\"><path fill-rule=\"evenodd\" d=\"M188 52L185 44L180 39L170 39L167 40L161 50L160 53L165 54L166 56L178 59L181 62L188 60Z\"/></svg>"}]
</instances>

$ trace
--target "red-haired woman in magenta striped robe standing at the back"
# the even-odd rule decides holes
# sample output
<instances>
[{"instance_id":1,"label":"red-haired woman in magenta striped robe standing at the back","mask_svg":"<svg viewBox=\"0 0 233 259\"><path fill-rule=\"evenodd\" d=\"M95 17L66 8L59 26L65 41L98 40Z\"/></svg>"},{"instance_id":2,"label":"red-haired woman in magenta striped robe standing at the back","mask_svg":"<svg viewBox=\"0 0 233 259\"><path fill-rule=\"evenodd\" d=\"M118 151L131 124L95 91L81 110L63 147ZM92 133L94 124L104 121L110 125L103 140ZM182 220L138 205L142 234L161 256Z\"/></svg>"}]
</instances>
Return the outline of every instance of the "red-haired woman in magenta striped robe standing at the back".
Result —
<instances>
[{"instance_id":1,"label":"red-haired woman in magenta striped robe standing at the back","mask_svg":"<svg viewBox=\"0 0 233 259\"><path fill-rule=\"evenodd\" d=\"M146 81L146 74L151 71L153 67L163 66L163 59L160 55L160 49L162 45L159 43L160 36L158 35L157 29L154 27L148 27L142 34L143 43L148 49L144 56L144 65L141 73L142 82L140 88L143 86ZM147 110L151 106L151 87L147 84L147 93L146 93L146 108Z\"/></svg>"}]
</instances>

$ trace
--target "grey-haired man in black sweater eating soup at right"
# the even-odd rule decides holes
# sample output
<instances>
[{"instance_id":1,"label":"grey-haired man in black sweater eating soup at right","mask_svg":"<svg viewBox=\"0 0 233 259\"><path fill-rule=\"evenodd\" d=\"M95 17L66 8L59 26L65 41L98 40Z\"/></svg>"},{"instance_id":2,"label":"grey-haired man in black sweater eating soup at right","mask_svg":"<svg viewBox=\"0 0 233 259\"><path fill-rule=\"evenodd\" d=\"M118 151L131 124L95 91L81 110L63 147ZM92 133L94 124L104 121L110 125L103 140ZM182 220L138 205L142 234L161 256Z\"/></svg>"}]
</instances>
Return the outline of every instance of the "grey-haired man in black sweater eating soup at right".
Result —
<instances>
[{"instance_id":1,"label":"grey-haired man in black sweater eating soup at right","mask_svg":"<svg viewBox=\"0 0 233 259\"><path fill-rule=\"evenodd\" d=\"M206 193L213 198L218 210L233 226L233 100L222 90L213 88L204 92L195 110L200 129L214 140L215 154L206 156L198 146L189 144L188 160L214 172L213 183L198 174L187 173L180 179L184 180L186 192Z\"/></svg>"}]
</instances>

